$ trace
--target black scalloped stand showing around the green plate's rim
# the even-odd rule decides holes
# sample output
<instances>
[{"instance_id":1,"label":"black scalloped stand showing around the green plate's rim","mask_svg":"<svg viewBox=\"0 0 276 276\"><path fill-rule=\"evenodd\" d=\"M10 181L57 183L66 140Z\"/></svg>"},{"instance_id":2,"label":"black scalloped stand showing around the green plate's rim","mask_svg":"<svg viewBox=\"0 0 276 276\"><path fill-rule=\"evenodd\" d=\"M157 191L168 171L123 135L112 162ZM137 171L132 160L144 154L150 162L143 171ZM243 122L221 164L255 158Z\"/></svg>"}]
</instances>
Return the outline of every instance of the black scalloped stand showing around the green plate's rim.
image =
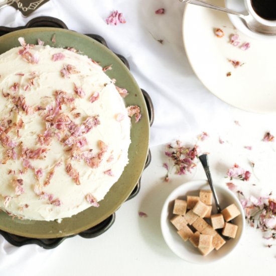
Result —
<instances>
[{"instance_id":1,"label":"black scalloped stand showing around the green plate's rim","mask_svg":"<svg viewBox=\"0 0 276 276\"><path fill-rule=\"evenodd\" d=\"M30 20L26 24L26 26L17 27L17 28L0 27L0 36L11 33L13 31L26 29L26 28L36 28L36 27L54 27L54 28L68 29L67 26L59 19L56 19L53 17L37 17L37 18ZM101 36L94 35L94 34L85 34L85 35L95 39L96 41L100 42L104 46L108 47L106 44L106 41ZM125 64L125 66L129 69L129 64L128 64L127 60L119 54L116 54L116 55ZM147 104L149 117L150 117L150 125L152 125L153 121L154 121L153 103L152 103L152 100L151 100L151 97L149 96L149 94L144 89L141 89L141 90L142 90L142 93L144 95L144 98L145 98L145 101ZM148 158L147 158L147 161L145 164L145 169L149 166L150 162L151 162L151 152L149 150ZM141 186L141 178L139 179L138 183L136 184L135 188L133 189L133 191L127 198L127 200L135 197L139 193L140 186ZM96 226L94 226L90 229L87 229L81 233L78 233L76 235L79 235L83 238L93 238L93 237L99 236L102 233L104 233L106 230L108 230L111 227L111 225L114 223L114 221L115 221L115 213L110 215L108 218L106 218L105 220L103 220L102 222L97 224ZM61 237L61 238L37 239L37 238L28 238L28 237L14 235L14 234L2 231L2 230L0 230L0 234L8 242L10 242L11 244L13 244L15 246L22 246L22 245L26 245L26 244L37 244L37 245L42 246L45 249L55 248L66 238L75 236L75 235L71 235L71 236L66 236L66 237Z\"/></svg>"}]
</instances>

